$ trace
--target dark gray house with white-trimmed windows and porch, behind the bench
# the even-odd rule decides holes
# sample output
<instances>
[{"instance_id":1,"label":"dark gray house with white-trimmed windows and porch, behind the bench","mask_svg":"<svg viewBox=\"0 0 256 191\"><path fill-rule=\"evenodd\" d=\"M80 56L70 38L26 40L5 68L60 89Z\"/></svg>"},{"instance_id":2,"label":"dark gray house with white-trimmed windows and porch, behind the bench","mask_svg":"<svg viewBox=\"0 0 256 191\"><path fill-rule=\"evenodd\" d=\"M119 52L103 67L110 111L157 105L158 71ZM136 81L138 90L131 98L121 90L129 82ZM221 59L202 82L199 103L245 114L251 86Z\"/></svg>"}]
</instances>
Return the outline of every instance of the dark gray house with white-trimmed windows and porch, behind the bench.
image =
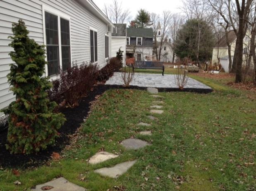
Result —
<instances>
[{"instance_id":1,"label":"dark gray house with white-trimmed windows and porch, behind the bench","mask_svg":"<svg viewBox=\"0 0 256 191\"><path fill-rule=\"evenodd\" d=\"M153 35L152 28L127 28L126 58L151 61Z\"/></svg>"}]
</instances>

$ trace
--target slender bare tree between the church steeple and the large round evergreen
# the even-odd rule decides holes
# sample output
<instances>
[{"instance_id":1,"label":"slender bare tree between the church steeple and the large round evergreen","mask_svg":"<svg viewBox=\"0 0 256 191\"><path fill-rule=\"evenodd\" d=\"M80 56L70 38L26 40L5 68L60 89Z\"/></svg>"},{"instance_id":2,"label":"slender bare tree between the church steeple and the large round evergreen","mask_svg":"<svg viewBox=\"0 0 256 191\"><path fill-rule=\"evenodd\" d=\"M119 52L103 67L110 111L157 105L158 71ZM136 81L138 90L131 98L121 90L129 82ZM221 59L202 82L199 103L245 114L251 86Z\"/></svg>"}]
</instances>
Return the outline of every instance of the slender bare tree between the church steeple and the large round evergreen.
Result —
<instances>
[{"instance_id":1,"label":"slender bare tree between the church steeple and the large round evergreen","mask_svg":"<svg viewBox=\"0 0 256 191\"><path fill-rule=\"evenodd\" d=\"M176 38L177 38L177 33L180 30L182 24L184 24L184 19L181 16L181 14L176 13L171 16L171 23L170 23L170 28L169 28L169 35L171 39L171 49L172 49L172 63L174 63L175 59L175 47L176 47Z\"/></svg>"}]
</instances>

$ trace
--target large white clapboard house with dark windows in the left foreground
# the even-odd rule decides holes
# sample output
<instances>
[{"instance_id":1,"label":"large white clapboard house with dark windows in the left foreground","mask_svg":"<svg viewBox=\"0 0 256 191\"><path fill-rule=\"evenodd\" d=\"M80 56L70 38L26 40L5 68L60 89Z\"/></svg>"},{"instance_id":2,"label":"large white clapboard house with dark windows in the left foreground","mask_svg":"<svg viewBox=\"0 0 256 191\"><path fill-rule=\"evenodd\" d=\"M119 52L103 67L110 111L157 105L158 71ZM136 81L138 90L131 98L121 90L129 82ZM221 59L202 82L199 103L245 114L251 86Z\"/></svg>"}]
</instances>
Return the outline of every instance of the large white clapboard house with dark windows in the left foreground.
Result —
<instances>
[{"instance_id":1,"label":"large white clapboard house with dark windows in the left foreground","mask_svg":"<svg viewBox=\"0 0 256 191\"><path fill-rule=\"evenodd\" d=\"M72 63L83 61L103 67L111 54L114 25L92 0L1 0L0 1L0 109L15 97L9 91L6 75L13 61L7 37L12 22L22 19L29 37L47 47L46 75L56 78Z\"/></svg>"}]
</instances>

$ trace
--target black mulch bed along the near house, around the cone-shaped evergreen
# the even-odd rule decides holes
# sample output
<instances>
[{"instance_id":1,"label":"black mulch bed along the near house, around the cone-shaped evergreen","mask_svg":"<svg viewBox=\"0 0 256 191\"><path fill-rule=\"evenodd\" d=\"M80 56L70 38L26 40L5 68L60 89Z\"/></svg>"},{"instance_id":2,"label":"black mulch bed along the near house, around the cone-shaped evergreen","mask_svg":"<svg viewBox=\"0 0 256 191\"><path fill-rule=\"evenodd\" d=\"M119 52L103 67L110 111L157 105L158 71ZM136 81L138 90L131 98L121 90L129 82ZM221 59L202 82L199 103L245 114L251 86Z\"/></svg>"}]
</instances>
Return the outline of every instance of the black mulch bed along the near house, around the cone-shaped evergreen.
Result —
<instances>
[{"instance_id":1,"label":"black mulch bed along the near house, around the cone-shaped evergreen","mask_svg":"<svg viewBox=\"0 0 256 191\"><path fill-rule=\"evenodd\" d=\"M48 149L41 151L39 153L34 153L31 155L21 155L21 154L10 154L9 151L5 149L7 129L0 132L0 167L11 167L11 168L33 168L43 163L46 163L53 152L60 153L62 149L69 143L68 135L75 133L83 119L87 117L89 112L90 102L95 100L95 97L101 95L110 87L105 85L97 85L94 87L92 92L89 92L87 97L84 97L79 106L75 108L62 108L62 112L67 121L60 128L60 137L56 140L56 144L48 147Z\"/></svg>"}]
</instances>

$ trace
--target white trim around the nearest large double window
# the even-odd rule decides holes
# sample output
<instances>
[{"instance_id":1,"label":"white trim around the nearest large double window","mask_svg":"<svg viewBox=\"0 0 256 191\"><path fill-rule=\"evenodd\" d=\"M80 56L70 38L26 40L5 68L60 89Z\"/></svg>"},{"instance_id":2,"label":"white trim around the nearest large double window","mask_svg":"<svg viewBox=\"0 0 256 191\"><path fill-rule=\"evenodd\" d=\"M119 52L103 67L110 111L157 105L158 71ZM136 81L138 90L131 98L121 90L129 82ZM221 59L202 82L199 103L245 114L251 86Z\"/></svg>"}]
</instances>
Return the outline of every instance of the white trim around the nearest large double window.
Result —
<instances>
[{"instance_id":1,"label":"white trim around the nearest large double window","mask_svg":"<svg viewBox=\"0 0 256 191\"><path fill-rule=\"evenodd\" d=\"M45 12L49 12L58 16L58 42L59 42L59 59L60 59L60 68L62 68L62 52L61 52L61 31L60 31L60 18L66 19L69 21L69 39L70 39L70 61L72 65L72 51L71 51L71 27L70 27L70 17L62 12L59 12L57 9L53 9L52 7L48 7L42 4L42 12L43 12L43 44L46 46L46 26L45 26ZM47 61L47 54L45 60ZM45 76L48 76L48 65L45 65ZM50 79L58 78L58 74L51 76Z\"/></svg>"}]
</instances>

